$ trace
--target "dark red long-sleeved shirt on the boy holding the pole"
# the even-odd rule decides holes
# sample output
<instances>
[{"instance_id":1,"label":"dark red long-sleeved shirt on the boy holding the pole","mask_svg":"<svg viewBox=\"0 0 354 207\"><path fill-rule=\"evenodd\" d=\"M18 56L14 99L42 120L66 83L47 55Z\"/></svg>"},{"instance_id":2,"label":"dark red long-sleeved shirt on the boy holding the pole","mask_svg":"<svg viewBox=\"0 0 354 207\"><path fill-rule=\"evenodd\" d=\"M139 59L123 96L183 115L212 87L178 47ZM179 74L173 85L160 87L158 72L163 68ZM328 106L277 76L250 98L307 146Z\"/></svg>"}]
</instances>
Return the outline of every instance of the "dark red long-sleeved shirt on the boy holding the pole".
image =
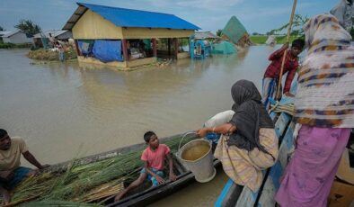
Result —
<instances>
[{"instance_id":1,"label":"dark red long-sleeved shirt on the boy holding the pole","mask_svg":"<svg viewBox=\"0 0 354 207\"><path fill-rule=\"evenodd\" d=\"M277 82L279 80L279 74L281 69L281 61L283 60L285 49L279 49L270 55L269 60L271 61L270 66L267 67L264 77L276 78ZM285 58L283 75L288 72L287 79L284 86L284 94L290 91L291 82L296 74L296 69L298 67L297 57L294 57L290 49L288 49L287 57Z\"/></svg>"}]
</instances>

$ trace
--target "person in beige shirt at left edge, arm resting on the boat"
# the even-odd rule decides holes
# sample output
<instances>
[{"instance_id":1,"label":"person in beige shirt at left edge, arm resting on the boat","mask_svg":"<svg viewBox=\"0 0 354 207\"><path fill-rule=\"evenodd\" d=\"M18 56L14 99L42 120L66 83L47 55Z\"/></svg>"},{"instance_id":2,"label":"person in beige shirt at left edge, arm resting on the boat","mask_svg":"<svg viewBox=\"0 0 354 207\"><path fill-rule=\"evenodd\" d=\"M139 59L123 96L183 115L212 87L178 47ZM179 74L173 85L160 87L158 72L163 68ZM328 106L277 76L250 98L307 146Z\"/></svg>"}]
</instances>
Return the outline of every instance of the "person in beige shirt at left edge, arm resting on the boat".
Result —
<instances>
[{"instance_id":1,"label":"person in beige shirt at left edge, arm resting on the boat","mask_svg":"<svg viewBox=\"0 0 354 207\"><path fill-rule=\"evenodd\" d=\"M40 165L40 162L28 150L23 139L10 138L6 130L0 129L0 193L4 204L10 202L10 190L20 184L25 177L35 174L31 168L20 166L21 154L39 169L49 166Z\"/></svg>"}]
</instances>

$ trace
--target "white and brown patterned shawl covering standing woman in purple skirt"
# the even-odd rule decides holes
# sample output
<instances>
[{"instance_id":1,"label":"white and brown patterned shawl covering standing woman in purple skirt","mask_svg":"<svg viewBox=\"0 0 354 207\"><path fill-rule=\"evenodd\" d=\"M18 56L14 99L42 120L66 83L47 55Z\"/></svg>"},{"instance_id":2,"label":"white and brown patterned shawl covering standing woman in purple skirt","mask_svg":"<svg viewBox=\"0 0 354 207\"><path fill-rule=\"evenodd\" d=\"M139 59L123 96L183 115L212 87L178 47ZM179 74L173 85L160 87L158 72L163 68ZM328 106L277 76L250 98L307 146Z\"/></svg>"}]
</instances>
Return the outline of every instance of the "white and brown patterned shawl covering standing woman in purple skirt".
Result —
<instances>
[{"instance_id":1,"label":"white and brown patterned shawl covering standing woman in purple skirt","mask_svg":"<svg viewBox=\"0 0 354 207\"><path fill-rule=\"evenodd\" d=\"M354 127L354 47L332 14L305 24L305 61L298 72L294 120L317 127Z\"/></svg>"}]
</instances>

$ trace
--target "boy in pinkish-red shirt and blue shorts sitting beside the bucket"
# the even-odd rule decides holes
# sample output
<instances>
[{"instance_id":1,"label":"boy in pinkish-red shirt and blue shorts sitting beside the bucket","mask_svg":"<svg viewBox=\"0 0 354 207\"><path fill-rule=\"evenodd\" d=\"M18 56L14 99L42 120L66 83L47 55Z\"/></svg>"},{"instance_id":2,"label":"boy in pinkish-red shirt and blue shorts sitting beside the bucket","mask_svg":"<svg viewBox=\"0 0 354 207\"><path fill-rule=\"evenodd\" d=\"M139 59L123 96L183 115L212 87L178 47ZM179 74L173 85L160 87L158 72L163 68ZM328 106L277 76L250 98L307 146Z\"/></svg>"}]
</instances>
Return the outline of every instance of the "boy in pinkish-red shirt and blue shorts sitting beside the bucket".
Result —
<instances>
[{"instance_id":1,"label":"boy in pinkish-red shirt and blue shorts sitting beside the bucket","mask_svg":"<svg viewBox=\"0 0 354 207\"><path fill-rule=\"evenodd\" d=\"M164 159L167 157L170 167L170 180L176 180L176 175L173 174L173 158L171 157L171 149L160 144L154 131L147 131L144 134L144 140L148 145L141 155L141 160L144 162L144 168L140 171L140 175L133 183L117 194L115 201L119 201L129 190L143 184L146 178L153 183L153 186L164 184Z\"/></svg>"}]
</instances>

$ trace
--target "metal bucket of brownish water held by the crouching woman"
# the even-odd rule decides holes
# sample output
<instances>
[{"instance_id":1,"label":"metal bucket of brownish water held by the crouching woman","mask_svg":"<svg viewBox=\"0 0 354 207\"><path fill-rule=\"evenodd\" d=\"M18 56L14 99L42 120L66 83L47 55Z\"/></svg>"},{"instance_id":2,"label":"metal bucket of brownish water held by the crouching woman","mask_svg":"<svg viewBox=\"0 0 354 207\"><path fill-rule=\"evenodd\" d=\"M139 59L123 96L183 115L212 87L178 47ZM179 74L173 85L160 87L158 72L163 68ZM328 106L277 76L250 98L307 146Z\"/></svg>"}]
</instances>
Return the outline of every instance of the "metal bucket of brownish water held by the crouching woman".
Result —
<instances>
[{"instance_id":1,"label":"metal bucket of brownish water held by the crouching woman","mask_svg":"<svg viewBox=\"0 0 354 207\"><path fill-rule=\"evenodd\" d=\"M195 175L199 183L206 183L217 174L213 164L211 143L208 140L191 140L180 149L178 157L183 165Z\"/></svg>"}]
</instances>

